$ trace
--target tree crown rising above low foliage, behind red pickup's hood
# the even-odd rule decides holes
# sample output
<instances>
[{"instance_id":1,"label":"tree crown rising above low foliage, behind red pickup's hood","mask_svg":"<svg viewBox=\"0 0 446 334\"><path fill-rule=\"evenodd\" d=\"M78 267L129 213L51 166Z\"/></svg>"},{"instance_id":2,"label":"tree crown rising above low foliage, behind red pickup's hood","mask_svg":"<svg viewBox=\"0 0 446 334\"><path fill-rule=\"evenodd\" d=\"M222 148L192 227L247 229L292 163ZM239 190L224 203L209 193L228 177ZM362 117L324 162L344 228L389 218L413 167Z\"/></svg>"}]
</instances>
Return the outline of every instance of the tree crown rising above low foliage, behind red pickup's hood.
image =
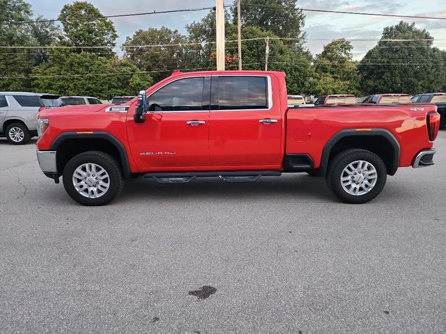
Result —
<instances>
[{"instance_id":1,"label":"tree crown rising above low foliage, behind red pickup's hood","mask_svg":"<svg viewBox=\"0 0 446 334\"><path fill-rule=\"evenodd\" d=\"M75 1L66 4L61 10L59 20L63 26L61 45L79 46L79 49L75 49L77 53L88 51L110 57L114 55L112 48L118 38L114 24L91 3ZM83 49L82 46L101 48Z\"/></svg>"}]
</instances>

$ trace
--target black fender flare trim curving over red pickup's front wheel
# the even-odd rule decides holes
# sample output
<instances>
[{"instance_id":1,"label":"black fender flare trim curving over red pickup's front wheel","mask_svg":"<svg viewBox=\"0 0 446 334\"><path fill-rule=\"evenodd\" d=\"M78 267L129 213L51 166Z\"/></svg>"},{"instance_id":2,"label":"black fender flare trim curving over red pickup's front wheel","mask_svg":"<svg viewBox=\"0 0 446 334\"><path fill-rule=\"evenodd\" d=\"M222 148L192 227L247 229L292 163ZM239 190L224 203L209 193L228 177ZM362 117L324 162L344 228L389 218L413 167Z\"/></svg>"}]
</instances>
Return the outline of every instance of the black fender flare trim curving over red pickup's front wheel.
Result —
<instances>
[{"instance_id":1,"label":"black fender flare trim curving over red pickup's front wheel","mask_svg":"<svg viewBox=\"0 0 446 334\"><path fill-rule=\"evenodd\" d=\"M63 141L66 141L67 139L105 139L118 150L119 157L121 157L121 163L123 166L123 173L124 177L130 177L132 175L132 170L130 170L130 164L128 161L127 151L125 150L124 145L121 143L121 141L118 141L118 138L113 136L112 134L109 134L108 132L103 131L94 131L89 134L78 134L77 132L63 132L59 134L59 136L54 139L52 142L49 150L57 151L57 148Z\"/></svg>"}]
</instances>

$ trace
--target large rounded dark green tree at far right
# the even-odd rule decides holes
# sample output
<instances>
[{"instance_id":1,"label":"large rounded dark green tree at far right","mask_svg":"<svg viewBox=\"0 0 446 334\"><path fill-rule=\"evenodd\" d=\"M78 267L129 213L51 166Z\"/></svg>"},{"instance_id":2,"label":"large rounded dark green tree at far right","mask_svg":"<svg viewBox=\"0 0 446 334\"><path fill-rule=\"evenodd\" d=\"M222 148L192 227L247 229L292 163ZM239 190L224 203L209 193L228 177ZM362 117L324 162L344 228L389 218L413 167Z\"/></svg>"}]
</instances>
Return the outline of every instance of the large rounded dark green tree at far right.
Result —
<instances>
[{"instance_id":1,"label":"large rounded dark green tree at far right","mask_svg":"<svg viewBox=\"0 0 446 334\"><path fill-rule=\"evenodd\" d=\"M432 43L429 32L415 24L401 21L385 27L378 45L360 61L361 86L366 93L417 94L444 89L444 51Z\"/></svg>"}]
</instances>

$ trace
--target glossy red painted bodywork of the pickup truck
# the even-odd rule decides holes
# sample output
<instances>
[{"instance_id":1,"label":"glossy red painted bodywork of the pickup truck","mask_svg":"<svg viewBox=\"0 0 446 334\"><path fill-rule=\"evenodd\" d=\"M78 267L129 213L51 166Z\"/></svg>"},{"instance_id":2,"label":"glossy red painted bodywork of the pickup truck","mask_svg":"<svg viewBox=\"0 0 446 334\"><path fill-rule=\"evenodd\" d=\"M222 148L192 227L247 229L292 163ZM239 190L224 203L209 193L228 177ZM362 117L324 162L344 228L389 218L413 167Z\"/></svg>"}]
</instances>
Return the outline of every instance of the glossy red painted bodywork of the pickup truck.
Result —
<instances>
[{"instance_id":1,"label":"glossy red painted bodywork of the pickup truck","mask_svg":"<svg viewBox=\"0 0 446 334\"><path fill-rule=\"evenodd\" d=\"M49 127L38 140L38 150L49 150L63 132L108 132L127 151L133 173L174 170L282 170L284 154L305 153L314 167L321 164L324 145L342 129L387 129L401 146L399 166L410 166L415 155L433 146L426 115L436 115L434 104L397 106L321 106L288 109L283 72L176 72L148 88L147 95L181 77L210 75L268 75L272 108L250 111L147 113L146 122L133 120L137 103L127 113L107 112L105 106L67 106L40 111ZM413 109L413 110L411 110ZM422 110L423 109L423 110ZM261 124L259 120L277 122ZM436 117L431 117L431 122ZM203 120L204 125L187 125ZM435 124L429 127L436 128ZM82 136L82 134L79 134Z\"/></svg>"}]
</instances>

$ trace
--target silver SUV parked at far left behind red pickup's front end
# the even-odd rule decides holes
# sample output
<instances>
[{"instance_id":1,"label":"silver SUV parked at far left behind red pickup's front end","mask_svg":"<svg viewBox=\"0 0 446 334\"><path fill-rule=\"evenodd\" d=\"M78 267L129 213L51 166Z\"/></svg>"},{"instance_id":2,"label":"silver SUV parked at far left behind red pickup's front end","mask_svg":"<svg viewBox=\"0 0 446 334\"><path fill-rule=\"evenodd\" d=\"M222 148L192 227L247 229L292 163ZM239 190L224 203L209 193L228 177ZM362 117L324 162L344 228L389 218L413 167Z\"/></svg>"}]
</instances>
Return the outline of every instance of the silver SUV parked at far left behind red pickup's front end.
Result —
<instances>
[{"instance_id":1,"label":"silver SUV parked at far left behind red pickup's front end","mask_svg":"<svg viewBox=\"0 0 446 334\"><path fill-rule=\"evenodd\" d=\"M58 95L0 92L0 136L22 145L37 135L37 114L45 106L61 106Z\"/></svg>"}]
</instances>

